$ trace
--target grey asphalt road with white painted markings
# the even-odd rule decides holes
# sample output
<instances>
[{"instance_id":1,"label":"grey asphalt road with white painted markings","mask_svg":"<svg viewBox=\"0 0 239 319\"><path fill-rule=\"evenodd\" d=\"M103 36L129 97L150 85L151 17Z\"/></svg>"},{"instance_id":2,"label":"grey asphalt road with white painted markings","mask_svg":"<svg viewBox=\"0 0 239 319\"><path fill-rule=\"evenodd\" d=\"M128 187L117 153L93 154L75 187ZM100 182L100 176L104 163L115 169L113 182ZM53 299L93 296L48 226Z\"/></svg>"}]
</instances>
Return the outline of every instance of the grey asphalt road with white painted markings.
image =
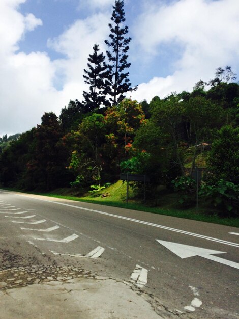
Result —
<instances>
[{"instance_id":1,"label":"grey asphalt road with white painted markings","mask_svg":"<svg viewBox=\"0 0 239 319\"><path fill-rule=\"evenodd\" d=\"M0 239L0 270L81 267L165 318L239 318L235 227L0 190Z\"/></svg>"}]
</instances>

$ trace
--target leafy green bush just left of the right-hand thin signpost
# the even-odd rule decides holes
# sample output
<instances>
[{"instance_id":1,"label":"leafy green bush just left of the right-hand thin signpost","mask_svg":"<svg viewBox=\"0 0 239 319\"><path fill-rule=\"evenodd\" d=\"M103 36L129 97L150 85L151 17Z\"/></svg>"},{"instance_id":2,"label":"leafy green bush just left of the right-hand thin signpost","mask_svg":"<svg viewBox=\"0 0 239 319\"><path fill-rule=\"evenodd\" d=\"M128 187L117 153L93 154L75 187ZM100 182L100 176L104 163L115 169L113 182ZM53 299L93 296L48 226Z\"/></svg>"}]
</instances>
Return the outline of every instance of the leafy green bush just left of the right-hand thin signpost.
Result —
<instances>
[{"instance_id":1,"label":"leafy green bush just left of the right-hand thin signpost","mask_svg":"<svg viewBox=\"0 0 239 319\"><path fill-rule=\"evenodd\" d=\"M172 180L174 190L180 194L178 202L190 206L195 202L196 182L190 176L180 176Z\"/></svg>"}]
</instances>

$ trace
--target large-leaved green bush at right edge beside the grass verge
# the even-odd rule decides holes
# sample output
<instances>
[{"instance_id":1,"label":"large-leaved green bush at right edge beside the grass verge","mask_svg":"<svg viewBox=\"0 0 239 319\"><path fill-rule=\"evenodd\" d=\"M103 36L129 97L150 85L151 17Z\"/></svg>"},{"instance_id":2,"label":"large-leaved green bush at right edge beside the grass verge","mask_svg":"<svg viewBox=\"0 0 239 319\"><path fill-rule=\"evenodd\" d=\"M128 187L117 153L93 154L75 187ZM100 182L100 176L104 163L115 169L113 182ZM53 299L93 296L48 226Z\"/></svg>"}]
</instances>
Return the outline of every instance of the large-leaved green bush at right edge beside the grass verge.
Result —
<instances>
[{"instance_id":1,"label":"large-leaved green bush at right edge beside the grass verge","mask_svg":"<svg viewBox=\"0 0 239 319\"><path fill-rule=\"evenodd\" d=\"M199 196L210 201L222 216L239 216L239 186L220 179L215 185L202 184Z\"/></svg>"}]
</instances>

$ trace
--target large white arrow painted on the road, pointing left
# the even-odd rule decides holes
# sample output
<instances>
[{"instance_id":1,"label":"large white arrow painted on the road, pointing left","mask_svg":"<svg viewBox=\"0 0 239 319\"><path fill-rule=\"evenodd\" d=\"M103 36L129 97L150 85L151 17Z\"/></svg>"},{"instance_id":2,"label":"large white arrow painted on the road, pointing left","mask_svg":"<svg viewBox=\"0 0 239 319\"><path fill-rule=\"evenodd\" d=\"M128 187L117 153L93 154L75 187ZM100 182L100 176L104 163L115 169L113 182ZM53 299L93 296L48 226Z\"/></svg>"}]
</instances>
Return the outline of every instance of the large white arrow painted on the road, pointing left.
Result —
<instances>
[{"instance_id":1,"label":"large white arrow painted on the road, pointing left","mask_svg":"<svg viewBox=\"0 0 239 319\"><path fill-rule=\"evenodd\" d=\"M205 248L200 248L200 247L194 247L194 246L188 246L188 245L183 245L183 244L178 244L178 243L165 242L165 241L160 241L160 240L156 240L156 241L182 259L188 258L188 257L200 256L200 257L210 259L213 261L217 261L217 262L223 263L225 265L228 265L230 267L239 269L239 263L236 263L236 262L230 261L230 260L226 260L223 258L219 258L216 256L212 256L212 254L226 254L225 252L211 250L211 249L205 249Z\"/></svg>"}]
</instances>

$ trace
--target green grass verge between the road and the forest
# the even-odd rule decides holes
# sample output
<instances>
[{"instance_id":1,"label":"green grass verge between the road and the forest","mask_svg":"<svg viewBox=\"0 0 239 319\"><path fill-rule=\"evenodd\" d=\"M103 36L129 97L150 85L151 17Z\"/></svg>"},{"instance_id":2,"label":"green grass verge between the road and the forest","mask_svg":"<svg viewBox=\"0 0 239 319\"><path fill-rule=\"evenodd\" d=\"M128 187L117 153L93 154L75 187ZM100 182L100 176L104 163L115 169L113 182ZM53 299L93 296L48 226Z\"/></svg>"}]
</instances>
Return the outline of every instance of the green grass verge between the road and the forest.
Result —
<instances>
[{"instance_id":1,"label":"green grass verge between the road and the forest","mask_svg":"<svg viewBox=\"0 0 239 319\"><path fill-rule=\"evenodd\" d=\"M6 188L5 188L6 189ZM9 189L15 190L16 189ZM21 191L22 192L22 191ZM188 209L178 208L178 197L176 194L163 194L162 190L159 190L159 198L157 201L149 201L143 203L142 200L134 198L133 190L129 190L129 202L126 202L126 183L117 181L110 185L107 189L101 190L98 193L85 193L79 194L72 189L57 189L50 193L35 193L26 192L37 195L44 195L50 197L57 197L62 199L81 201L87 203L94 203L100 205L108 205L114 207L121 207L127 209L134 209L140 211L147 211L154 214L174 216L179 218L186 218L196 221L215 223L227 226L239 227L239 218L221 218L217 216L216 211L212 208L208 208L205 203L199 202L198 214L196 214L196 208L190 207ZM102 197L102 194L107 195Z\"/></svg>"}]
</instances>

